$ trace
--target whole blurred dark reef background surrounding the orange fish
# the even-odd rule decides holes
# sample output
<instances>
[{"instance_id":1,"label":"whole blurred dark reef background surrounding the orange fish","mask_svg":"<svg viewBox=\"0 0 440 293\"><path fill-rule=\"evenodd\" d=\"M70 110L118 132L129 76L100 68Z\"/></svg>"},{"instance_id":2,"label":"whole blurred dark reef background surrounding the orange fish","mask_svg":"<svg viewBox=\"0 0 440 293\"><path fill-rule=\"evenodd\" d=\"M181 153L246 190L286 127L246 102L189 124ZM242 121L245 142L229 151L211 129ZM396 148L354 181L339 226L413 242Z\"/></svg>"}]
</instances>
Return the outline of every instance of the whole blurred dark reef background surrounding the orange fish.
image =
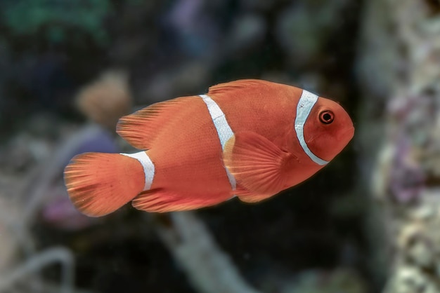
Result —
<instances>
[{"instance_id":1,"label":"whole blurred dark reef background surrounding the orange fish","mask_svg":"<svg viewBox=\"0 0 440 293\"><path fill-rule=\"evenodd\" d=\"M0 292L440 292L439 65L438 0L1 0ZM264 203L72 207L72 156L132 150L120 116L248 78L354 140Z\"/></svg>"}]
</instances>

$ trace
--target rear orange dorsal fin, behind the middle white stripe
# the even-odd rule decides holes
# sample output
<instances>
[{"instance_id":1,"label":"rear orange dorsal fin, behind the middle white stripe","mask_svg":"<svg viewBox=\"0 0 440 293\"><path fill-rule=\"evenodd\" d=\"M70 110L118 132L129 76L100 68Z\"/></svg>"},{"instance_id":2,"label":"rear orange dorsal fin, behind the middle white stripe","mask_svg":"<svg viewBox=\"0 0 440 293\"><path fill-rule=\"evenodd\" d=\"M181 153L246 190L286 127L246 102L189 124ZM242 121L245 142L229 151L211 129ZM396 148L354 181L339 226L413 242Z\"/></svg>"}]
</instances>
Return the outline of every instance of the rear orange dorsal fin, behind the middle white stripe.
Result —
<instances>
[{"instance_id":1,"label":"rear orange dorsal fin, behind the middle white stripe","mask_svg":"<svg viewBox=\"0 0 440 293\"><path fill-rule=\"evenodd\" d=\"M119 119L116 132L136 149L151 149L164 125L190 111L190 103L199 97L178 97L145 107Z\"/></svg>"}]
</instances>

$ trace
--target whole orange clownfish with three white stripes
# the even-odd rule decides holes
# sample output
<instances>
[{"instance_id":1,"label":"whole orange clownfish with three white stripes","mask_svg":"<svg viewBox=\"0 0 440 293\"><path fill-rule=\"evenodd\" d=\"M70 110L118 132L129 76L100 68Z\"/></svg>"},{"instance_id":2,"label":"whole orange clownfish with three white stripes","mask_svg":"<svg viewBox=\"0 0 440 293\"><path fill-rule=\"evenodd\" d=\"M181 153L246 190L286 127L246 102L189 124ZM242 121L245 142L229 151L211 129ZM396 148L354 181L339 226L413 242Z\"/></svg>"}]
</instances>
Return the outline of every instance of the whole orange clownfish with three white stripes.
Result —
<instances>
[{"instance_id":1,"label":"whole orange clownfish with three white stripes","mask_svg":"<svg viewBox=\"0 0 440 293\"><path fill-rule=\"evenodd\" d=\"M234 196L246 203L303 182L354 135L337 102L261 80L209 88L124 116L117 133L135 154L86 153L64 178L77 209L99 217L131 201L138 210L195 210Z\"/></svg>"}]
</instances>

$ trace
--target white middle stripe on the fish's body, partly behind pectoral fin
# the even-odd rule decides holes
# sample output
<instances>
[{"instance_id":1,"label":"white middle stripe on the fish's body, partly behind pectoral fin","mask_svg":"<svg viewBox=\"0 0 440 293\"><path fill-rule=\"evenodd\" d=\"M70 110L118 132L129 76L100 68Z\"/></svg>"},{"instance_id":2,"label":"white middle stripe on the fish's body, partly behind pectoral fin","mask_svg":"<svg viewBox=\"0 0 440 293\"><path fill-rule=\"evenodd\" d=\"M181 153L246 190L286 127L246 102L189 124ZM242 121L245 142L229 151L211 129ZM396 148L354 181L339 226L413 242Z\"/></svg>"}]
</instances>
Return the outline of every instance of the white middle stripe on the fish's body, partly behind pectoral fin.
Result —
<instances>
[{"instance_id":1,"label":"white middle stripe on the fish's body, partly behind pectoral fin","mask_svg":"<svg viewBox=\"0 0 440 293\"><path fill-rule=\"evenodd\" d=\"M217 130L217 135L220 139L221 149L224 149L226 142L233 137L234 132L226 121L226 116L221 111L220 107L211 97L208 95L200 95L208 107L209 115L211 115L212 122L214 123L215 129ZM231 184L232 190L235 190L237 184L235 182L235 177L229 172L228 168L225 167L226 175L228 175L229 183Z\"/></svg>"}]
</instances>

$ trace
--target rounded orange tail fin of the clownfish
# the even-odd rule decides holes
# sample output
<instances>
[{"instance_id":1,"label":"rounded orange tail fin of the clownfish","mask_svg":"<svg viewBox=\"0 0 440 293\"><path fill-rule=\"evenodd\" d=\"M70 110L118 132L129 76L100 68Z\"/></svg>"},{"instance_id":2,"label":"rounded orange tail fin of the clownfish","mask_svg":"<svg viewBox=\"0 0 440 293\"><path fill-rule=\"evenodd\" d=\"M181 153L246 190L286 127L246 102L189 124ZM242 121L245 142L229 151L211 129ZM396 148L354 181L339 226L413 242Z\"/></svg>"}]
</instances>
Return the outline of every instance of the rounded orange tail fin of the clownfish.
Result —
<instances>
[{"instance_id":1,"label":"rounded orange tail fin of the clownfish","mask_svg":"<svg viewBox=\"0 0 440 293\"><path fill-rule=\"evenodd\" d=\"M70 200L91 217L110 214L141 193L143 166L122 154L86 153L75 156L64 170Z\"/></svg>"}]
</instances>

